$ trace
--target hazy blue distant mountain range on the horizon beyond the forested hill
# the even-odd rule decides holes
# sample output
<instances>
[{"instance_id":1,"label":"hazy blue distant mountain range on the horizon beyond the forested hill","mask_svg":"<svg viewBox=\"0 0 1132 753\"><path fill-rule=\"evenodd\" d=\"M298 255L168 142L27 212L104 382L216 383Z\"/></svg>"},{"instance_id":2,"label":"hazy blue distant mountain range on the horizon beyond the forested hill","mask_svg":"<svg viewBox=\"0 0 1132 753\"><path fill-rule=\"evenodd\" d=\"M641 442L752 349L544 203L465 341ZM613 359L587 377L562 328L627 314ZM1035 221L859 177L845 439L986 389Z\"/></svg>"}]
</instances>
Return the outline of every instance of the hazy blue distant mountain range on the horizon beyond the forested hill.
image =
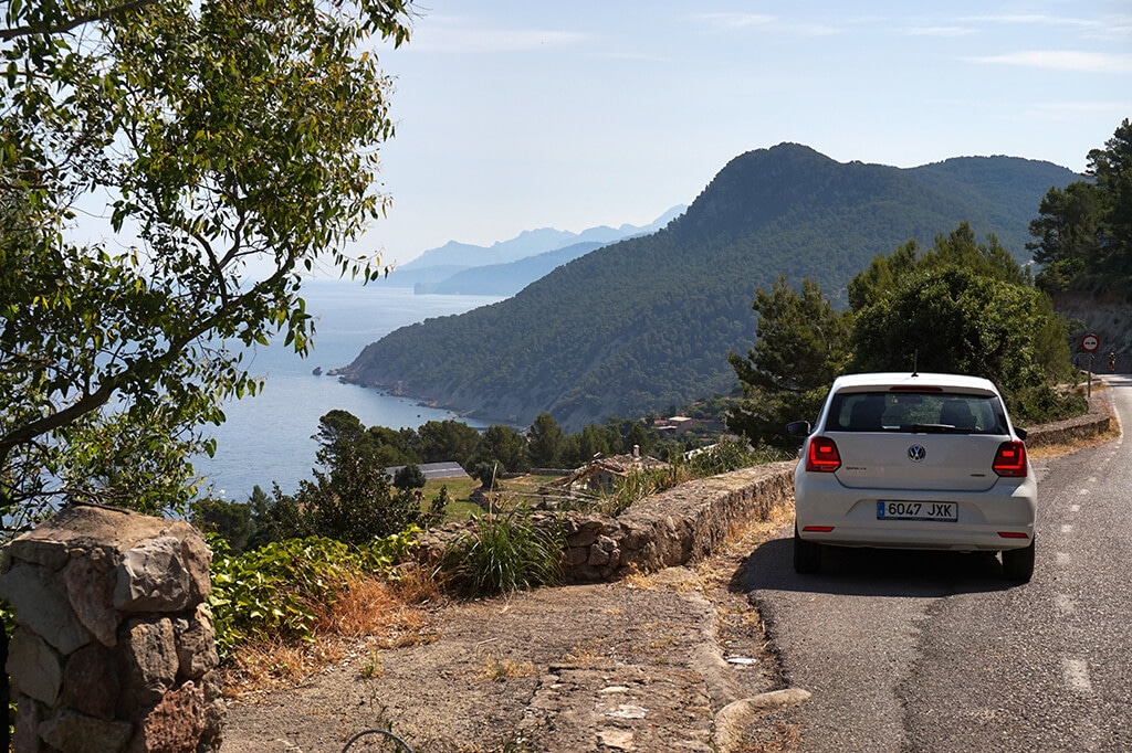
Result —
<instances>
[{"instance_id":1,"label":"hazy blue distant mountain range on the horizon beyond the forested hill","mask_svg":"<svg viewBox=\"0 0 1132 753\"><path fill-rule=\"evenodd\" d=\"M397 267L386 283L412 287L421 294L514 295L567 261L627 237L657 232L685 209L684 205L672 207L643 227L601 225L581 233L544 227L490 246L449 241Z\"/></svg>"}]
</instances>

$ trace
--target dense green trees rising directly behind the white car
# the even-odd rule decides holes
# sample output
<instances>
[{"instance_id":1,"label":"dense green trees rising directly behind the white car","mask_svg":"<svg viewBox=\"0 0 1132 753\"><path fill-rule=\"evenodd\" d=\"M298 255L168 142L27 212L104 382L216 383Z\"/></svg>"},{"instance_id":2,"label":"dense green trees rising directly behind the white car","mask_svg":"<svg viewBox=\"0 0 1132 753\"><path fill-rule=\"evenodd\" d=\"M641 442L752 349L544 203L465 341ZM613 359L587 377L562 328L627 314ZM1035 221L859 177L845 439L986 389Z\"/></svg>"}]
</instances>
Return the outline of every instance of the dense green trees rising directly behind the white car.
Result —
<instances>
[{"instance_id":1,"label":"dense green trees rising directly behind the white car","mask_svg":"<svg viewBox=\"0 0 1132 753\"><path fill-rule=\"evenodd\" d=\"M728 421L735 431L789 444L784 424L814 419L833 378L858 371L985 376L1021 422L1079 408L1053 390L1072 369L1065 322L994 236L979 243L961 223L929 250L909 241L848 291L851 309L840 314L811 280L800 292L781 278L757 292L755 347L731 355L746 398Z\"/></svg>"}]
</instances>

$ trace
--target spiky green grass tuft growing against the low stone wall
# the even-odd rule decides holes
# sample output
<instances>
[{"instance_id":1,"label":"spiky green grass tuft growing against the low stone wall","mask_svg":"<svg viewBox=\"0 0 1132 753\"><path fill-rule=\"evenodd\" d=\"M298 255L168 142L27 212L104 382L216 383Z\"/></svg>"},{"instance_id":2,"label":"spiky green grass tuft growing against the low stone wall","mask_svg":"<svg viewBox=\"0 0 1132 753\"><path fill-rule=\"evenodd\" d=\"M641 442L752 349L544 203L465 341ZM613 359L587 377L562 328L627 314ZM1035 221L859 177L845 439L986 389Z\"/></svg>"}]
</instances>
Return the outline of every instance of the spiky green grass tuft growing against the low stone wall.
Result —
<instances>
[{"instance_id":1,"label":"spiky green grass tuft growing against the low stone wall","mask_svg":"<svg viewBox=\"0 0 1132 753\"><path fill-rule=\"evenodd\" d=\"M440 571L468 596L552 586L561 579L565 542L537 527L526 509L482 514L444 552Z\"/></svg>"}]
</instances>

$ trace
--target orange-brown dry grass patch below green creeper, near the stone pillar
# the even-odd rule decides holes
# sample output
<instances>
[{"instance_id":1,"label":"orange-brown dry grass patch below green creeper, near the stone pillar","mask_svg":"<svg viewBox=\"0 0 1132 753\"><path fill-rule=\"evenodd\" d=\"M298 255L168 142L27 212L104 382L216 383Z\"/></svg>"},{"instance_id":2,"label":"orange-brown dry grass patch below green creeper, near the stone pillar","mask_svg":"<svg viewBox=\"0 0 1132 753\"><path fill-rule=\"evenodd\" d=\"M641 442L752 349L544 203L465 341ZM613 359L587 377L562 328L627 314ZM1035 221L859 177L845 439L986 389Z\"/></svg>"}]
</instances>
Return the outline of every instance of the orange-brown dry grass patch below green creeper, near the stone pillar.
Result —
<instances>
[{"instance_id":1,"label":"orange-brown dry grass patch below green creeper, near the stone pillar","mask_svg":"<svg viewBox=\"0 0 1132 753\"><path fill-rule=\"evenodd\" d=\"M221 669L224 694L293 686L351 660L361 664L363 675L376 676L379 649L438 638L432 607L440 600L436 582L421 571L408 571L396 581L358 578L336 601L317 605L314 641L241 646Z\"/></svg>"}]
</instances>

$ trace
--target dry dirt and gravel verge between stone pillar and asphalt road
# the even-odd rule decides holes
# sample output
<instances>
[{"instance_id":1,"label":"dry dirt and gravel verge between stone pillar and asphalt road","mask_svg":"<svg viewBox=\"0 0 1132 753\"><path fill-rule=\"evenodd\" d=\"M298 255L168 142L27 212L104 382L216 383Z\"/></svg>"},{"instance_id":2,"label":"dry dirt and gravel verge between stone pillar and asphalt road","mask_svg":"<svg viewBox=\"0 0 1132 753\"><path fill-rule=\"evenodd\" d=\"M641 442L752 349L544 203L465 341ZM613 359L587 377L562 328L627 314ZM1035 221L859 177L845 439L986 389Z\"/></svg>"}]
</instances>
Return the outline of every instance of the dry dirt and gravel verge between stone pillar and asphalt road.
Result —
<instances>
[{"instance_id":1,"label":"dry dirt and gravel verge between stone pillar and asphalt road","mask_svg":"<svg viewBox=\"0 0 1132 753\"><path fill-rule=\"evenodd\" d=\"M752 526L688 568L445 604L432 642L359 641L298 686L231 701L223 751L331 753L384 729L404 745L369 734L349 751L706 752L722 719L732 751L795 750L790 707L717 722L734 701L783 689L758 613L731 582L784 522Z\"/></svg>"}]
</instances>

